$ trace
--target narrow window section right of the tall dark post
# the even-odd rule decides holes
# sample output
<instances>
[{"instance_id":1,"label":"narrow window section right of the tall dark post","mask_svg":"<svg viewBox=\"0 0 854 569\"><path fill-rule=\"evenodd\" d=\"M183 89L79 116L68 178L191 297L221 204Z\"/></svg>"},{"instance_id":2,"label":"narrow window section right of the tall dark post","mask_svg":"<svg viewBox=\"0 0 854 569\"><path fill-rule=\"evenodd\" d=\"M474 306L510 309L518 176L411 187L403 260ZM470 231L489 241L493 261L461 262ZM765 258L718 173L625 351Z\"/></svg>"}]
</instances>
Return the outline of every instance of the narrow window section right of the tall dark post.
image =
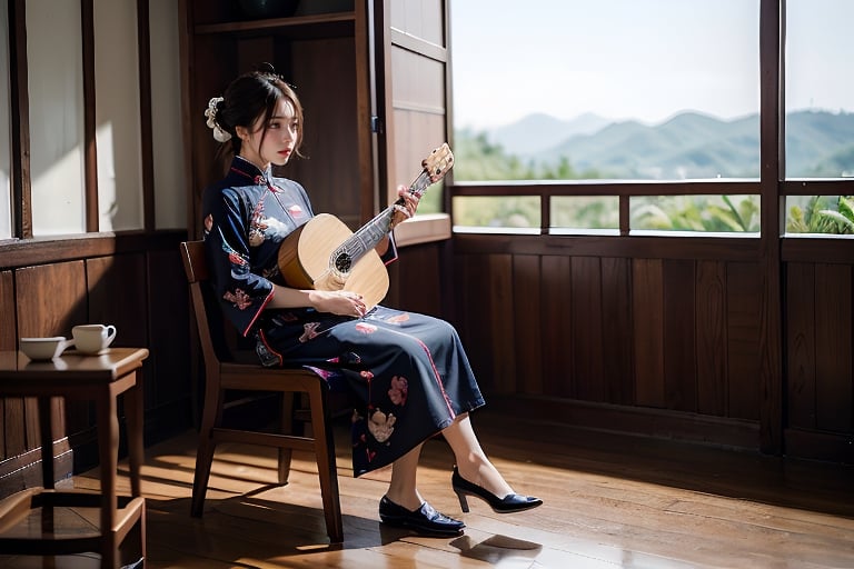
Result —
<instances>
[{"instance_id":1,"label":"narrow window section right of the tall dark post","mask_svg":"<svg viewBox=\"0 0 854 569\"><path fill-rule=\"evenodd\" d=\"M852 18L852 2L786 1L788 234L854 233Z\"/></svg>"}]
</instances>

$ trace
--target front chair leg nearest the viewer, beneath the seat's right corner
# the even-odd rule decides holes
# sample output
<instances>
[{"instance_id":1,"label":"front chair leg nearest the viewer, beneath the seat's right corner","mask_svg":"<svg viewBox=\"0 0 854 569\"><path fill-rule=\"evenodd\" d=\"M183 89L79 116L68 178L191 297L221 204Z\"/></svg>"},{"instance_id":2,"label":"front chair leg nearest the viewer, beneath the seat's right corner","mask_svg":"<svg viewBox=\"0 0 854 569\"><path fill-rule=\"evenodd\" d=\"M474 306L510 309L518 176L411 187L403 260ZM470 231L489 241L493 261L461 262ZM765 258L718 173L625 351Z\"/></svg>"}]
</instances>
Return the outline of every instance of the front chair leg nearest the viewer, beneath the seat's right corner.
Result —
<instances>
[{"instance_id":1,"label":"front chair leg nearest the viewer, beneath the seat's right corner","mask_svg":"<svg viewBox=\"0 0 854 569\"><path fill-rule=\"evenodd\" d=\"M315 435L315 453L317 455L317 472L320 478L320 495L324 500L326 532L329 541L344 541L344 522L341 521L341 502L338 493L338 469L335 463L335 441L332 430L328 428L326 411L326 393L318 382L308 393L311 407L311 428Z\"/></svg>"}]
</instances>

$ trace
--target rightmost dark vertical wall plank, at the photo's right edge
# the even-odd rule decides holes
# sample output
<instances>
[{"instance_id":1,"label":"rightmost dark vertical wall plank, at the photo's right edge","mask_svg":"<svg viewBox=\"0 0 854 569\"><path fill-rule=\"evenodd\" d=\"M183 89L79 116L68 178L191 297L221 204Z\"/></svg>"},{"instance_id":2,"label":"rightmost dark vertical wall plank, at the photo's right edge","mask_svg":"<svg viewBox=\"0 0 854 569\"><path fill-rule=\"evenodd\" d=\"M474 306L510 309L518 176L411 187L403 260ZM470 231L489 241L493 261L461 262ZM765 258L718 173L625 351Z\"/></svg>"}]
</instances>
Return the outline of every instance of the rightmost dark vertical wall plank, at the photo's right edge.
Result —
<instances>
[{"instance_id":1,"label":"rightmost dark vertical wall plank, at the photo's right edge","mask_svg":"<svg viewBox=\"0 0 854 569\"><path fill-rule=\"evenodd\" d=\"M851 432L852 407L852 268L815 266L816 426Z\"/></svg>"}]
</instances>

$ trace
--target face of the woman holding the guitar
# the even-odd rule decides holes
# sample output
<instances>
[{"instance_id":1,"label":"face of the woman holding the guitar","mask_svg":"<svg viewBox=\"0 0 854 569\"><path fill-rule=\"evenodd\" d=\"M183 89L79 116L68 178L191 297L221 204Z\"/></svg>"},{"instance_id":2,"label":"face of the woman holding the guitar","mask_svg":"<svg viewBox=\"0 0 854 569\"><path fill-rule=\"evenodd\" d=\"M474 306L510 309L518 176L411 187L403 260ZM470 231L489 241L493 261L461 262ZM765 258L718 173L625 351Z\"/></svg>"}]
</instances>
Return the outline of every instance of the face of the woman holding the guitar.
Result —
<instances>
[{"instance_id":1,"label":"face of the woman holding the guitar","mask_svg":"<svg viewBox=\"0 0 854 569\"><path fill-rule=\"evenodd\" d=\"M265 130L264 117L259 117L251 126L251 131L245 127L236 129L241 140L240 156L261 170L271 163L286 164L294 153L299 124L290 101L279 99L266 127Z\"/></svg>"}]
</instances>

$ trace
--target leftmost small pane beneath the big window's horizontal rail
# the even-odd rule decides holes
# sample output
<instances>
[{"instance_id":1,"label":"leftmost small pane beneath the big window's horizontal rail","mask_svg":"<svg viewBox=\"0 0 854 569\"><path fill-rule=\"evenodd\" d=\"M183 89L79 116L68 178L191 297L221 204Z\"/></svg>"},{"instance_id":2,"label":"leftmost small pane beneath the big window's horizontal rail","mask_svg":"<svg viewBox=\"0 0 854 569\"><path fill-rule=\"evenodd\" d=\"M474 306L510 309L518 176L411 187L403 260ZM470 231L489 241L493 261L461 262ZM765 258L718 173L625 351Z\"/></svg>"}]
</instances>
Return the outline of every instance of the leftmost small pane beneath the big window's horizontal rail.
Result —
<instances>
[{"instance_id":1,"label":"leftmost small pane beneath the big window's horizontal rail","mask_svg":"<svg viewBox=\"0 0 854 569\"><path fill-rule=\"evenodd\" d=\"M539 198L536 196L454 198L454 229L532 229L539 232Z\"/></svg>"}]
</instances>

